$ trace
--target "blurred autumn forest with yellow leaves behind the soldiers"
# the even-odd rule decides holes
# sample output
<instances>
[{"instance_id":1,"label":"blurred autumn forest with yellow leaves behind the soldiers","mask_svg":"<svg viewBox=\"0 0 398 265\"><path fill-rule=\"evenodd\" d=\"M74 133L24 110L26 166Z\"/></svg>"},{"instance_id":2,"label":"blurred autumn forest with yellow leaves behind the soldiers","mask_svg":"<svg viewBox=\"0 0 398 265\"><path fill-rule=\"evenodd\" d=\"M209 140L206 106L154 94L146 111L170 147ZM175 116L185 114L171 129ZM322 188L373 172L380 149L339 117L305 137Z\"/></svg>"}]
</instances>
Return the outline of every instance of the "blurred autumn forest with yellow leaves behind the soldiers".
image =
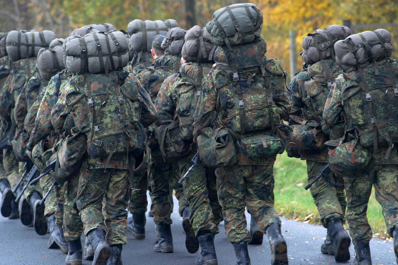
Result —
<instances>
[{"instance_id":1,"label":"blurred autumn forest with yellow leaves behind the soldiers","mask_svg":"<svg viewBox=\"0 0 398 265\"><path fill-rule=\"evenodd\" d=\"M111 23L127 29L133 19L176 19L181 28L205 26L213 12L240 0L0 0L0 32L13 29L49 29L65 38L83 25ZM301 69L301 40L307 33L328 25L398 23L396 1L391 0L258 0L263 13L262 36L267 56L278 58L289 72L289 30L296 32L296 66ZM355 28L355 32L377 27ZM398 43L398 27L384 27ZM354 32L354 33L355 33ZM396 48L396 47L395 47ZM395 50L393 57L398 57ZM289 75L291 73L289 72ZM293 73L294 74L294 73ZM289 76L290 77L290 76Z\"/></svg>"}]
</instances>

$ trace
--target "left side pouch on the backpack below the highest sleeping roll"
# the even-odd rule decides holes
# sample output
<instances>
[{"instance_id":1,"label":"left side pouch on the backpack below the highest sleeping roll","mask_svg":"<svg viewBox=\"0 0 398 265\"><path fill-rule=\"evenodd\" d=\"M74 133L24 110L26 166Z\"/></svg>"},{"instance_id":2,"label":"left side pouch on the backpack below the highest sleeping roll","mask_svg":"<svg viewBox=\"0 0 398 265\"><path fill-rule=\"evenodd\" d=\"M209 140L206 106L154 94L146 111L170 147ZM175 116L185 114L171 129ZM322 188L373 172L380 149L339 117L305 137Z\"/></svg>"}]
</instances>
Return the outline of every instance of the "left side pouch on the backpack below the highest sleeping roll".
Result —
<instances>
[{"instance_id":1,"label":"left side pouch on the backpack below the highest sleeping roll","mask_svg":"<svg viewBox=\"0 0 398 265\"><path fill-rule=\"evenodd\" d=\"M226 129L204 128L197 142L200 161L205 166L232 166L238 162L234 140Z\"/></svg>"}]
</instances>

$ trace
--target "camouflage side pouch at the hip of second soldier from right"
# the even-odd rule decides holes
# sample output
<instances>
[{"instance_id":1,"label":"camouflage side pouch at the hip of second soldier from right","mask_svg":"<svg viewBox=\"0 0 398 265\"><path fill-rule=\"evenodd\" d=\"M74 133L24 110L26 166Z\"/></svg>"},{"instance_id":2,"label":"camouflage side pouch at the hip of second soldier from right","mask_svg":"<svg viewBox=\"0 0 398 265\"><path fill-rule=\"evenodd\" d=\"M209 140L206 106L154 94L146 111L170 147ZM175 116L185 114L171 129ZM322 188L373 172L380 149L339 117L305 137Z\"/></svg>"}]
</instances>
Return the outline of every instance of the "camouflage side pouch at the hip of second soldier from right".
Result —
<instances>
[{"instance_id":1,"label":"camouflage side pouch at the hip of second soldier from right","mask_svg":"<svg viewBox=\"0 0 398 265\"><path fill-rule=\"evenodd\" d=\"M322 132L320 124L314 120L303 120L298 116L290 116L292 137L288 145L288 154L291 157L300 157L300 154L320 153L326 149L324 143L328 135Z\"/></svg>"}]
</instances>

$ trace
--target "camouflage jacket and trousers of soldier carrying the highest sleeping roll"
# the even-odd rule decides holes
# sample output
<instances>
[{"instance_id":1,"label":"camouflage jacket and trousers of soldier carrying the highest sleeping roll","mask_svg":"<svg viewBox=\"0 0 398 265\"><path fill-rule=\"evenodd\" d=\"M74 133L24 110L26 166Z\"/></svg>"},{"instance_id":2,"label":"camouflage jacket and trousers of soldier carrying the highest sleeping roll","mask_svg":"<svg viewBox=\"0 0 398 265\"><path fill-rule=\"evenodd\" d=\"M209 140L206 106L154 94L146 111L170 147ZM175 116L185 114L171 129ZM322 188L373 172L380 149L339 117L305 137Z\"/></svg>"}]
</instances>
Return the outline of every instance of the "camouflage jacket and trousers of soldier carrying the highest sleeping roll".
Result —
<instances>
[{"instance_id":1,"label":"camouflage jacket and trousers of soldier carrying the highest sleeping roll","mask_svg":"<svg viewBox=\"0 0 398 265\"><path fill-rule=\"evenodd\" d=\"M236 62L246 67L257 63L258 55L252 54L257 51L258 46L246 44L236 49ZM257 47L257 48L256 48ZM220 50L219 52L217 50ZM219 53L219 54L217 54ZM218 56L218 58L216 57ZM239 58L238 58L239 56ZM264 59L266 59L266 56ZM216 48L215 60L222 59L223 62L231 62L229 54L223 54L220 47ZM273 65L268 66L272 72L267 75L271 79L271 91L275 105L278 107L280 118L287 118L290 113L289 99L286 93L284 72L281 72L279 61L272 60ZM215 112L217 112L217 80L213 78L212 72L217 69L213 65L212 70L207 75L207 79L202 86L202 93L199 103L195 110L195 119L193 124L194 139L201 133L205 127L209 127ZM278 73L278 75L274 74ZM261 74L261 73L260 73ZM233 92L232 92L233 93ZM218 113L217 127L220 123L226 125L222 116L222 111ZM236 145L236 144L235 144ZM274 209L274 176L273 164L276 155L260 159L249 159L245 153L236 145L238 162L232 166L220 167L216 170L217 176L217 194L220 205L222 206L222 215L228 242L239 243L248 242L251 237L246 229L246 217L244 215L245 207L255 219L261 232L266 233L267 226L271 223L281 224L279 216Z\"/></svg>"}]
</instances>

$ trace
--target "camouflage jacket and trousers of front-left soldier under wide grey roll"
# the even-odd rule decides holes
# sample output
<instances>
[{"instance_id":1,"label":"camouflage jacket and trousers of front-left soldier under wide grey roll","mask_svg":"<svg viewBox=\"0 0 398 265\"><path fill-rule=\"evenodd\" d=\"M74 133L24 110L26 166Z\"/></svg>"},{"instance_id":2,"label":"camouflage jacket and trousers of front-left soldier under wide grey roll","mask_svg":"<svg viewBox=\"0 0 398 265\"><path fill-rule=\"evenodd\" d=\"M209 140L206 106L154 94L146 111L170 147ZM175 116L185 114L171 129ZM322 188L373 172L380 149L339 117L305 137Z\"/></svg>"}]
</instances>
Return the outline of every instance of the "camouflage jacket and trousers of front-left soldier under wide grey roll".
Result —
<instances>
[{"instance_id":1,"label":"camouflage jacket and trousers of front-left soldier under wide grey roll","mask_svg":"<svg viewBox=\"0 0 398 265\"><path fill-rule=\"evenodd\" d=\"M135 85L142 97L142 111L140 122L144 126L151 124L156 118L156 110L150 101L148 93L137 82L133 75L129 75L127 70L117 71L119 83L123 83L126 77ZM109 82L109 78L101 75L102 78ZM101 80L98 80L101 82ZM91 85L94 86L94 83ZM84 75L75 75L70 79L62 91L59 100L55 104L51 112L52 123L62 124L66 116L69 114L66 105L66 93L76 90L76 87L86 87L86 79ZM123 89L123 86L121 87ZM102 117L105 119L106 117ZM63 121L63 122L62 122ZM55 128L57 132L62 133L63 129ZM134 159L133 159L134 160ZM127 228L127 208L130 196L130 180L129 180L129 164L126 155L113 155L111 161L106 166L106 162L100 159L88 157L83 162L80 170L80 178L78 184L76 205L80 210L80 216L84 224L84 234L101 227L107 233L107 242L110 246L115 244L126 244L126 228ZM104 172L104 168L106 170ZM101 178L98 178L101 176ZM104 220L102 210L102 200L105 194L105 210L107 217Z\"/></svg>"}]
</instances>

